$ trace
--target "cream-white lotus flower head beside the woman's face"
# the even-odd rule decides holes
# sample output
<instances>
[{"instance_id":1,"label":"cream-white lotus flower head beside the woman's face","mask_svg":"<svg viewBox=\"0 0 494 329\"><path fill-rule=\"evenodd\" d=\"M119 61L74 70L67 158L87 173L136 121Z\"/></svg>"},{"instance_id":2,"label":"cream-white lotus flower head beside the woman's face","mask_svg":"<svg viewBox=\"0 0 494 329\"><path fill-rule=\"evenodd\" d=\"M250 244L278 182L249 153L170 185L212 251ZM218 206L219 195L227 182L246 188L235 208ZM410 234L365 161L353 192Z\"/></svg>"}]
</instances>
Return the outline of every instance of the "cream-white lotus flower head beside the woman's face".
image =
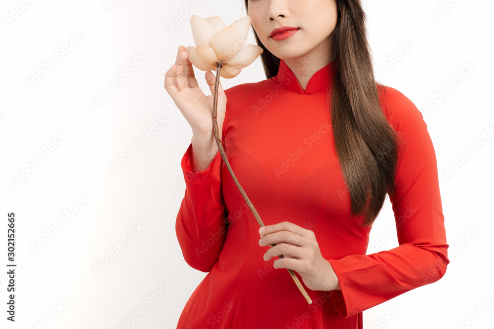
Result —
<instances>
[{"instance_id":1,"label":"cream-white lotus flower head beside the woman's face","mask_svg":"<svg viewBox=\"0 0 494 329\"><path fill-rule=\"evenodd\" d=\"M221 61L220 76L233 78L263 52L254 44L244 46L250 27L249 16L226 26L219 16L204 19L192 15L190 26L196 46L185 50L189 61L201 71L216 71L216 63Z\"/></svg>"}]
</instances>

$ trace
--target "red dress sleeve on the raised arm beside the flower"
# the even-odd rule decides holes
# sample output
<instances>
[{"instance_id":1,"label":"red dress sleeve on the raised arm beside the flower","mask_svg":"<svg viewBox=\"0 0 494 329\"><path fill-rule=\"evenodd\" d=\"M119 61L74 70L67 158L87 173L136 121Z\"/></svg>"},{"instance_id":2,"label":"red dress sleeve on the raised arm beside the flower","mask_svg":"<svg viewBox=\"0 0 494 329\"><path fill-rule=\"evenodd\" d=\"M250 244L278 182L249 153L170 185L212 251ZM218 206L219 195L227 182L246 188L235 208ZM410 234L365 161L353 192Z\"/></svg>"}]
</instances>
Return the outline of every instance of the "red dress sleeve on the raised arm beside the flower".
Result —
<instances>
[{"instance_id":1,"label":"red dress sleeve on the raised arm beside the flower","mask_svg":"<svg viewBox=\"0 0 494 329\"><path fill-rule=\"evenodd\" d=\"M185 261L209 272L219 257L226 235L225 203L221 193L223 159L216 153L209 167L192 172L192 143L182 157L185 195L175 222L175 231Z\"/></svg>"}]
</instances>

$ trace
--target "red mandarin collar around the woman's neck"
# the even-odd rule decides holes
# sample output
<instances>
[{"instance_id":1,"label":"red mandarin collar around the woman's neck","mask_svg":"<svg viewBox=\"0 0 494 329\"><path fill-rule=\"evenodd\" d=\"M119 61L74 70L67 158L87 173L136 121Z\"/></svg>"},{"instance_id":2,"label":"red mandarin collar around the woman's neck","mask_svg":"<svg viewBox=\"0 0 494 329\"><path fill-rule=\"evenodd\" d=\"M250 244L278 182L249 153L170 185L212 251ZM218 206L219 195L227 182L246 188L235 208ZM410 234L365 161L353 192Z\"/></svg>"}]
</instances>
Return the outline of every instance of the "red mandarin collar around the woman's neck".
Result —
<instances>
[{"instance_id":1,"label":"red mandarin collar around the woman's neck","mask_svg":"<svg viewBox=\"0 0 494 329\"><path fill-rule=\"evenodd\" d=\"M336 62L332 60L324 68L320 69L309 79L305 90L302 89L298 80L284 60L280 60L280 68L276 78L280 84L290 91L299 94L312 94L326 91L334 76Z\"/></svg>"}]
</instances>

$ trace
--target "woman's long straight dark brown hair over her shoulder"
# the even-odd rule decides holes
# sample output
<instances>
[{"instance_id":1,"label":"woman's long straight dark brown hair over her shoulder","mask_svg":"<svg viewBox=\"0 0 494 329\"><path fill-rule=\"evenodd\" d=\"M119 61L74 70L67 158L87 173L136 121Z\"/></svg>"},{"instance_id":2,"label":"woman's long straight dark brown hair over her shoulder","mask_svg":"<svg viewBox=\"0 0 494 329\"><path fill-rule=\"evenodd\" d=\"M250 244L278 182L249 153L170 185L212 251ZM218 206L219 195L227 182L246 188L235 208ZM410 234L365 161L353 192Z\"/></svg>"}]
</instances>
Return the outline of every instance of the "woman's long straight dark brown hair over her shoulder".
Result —
<instances>
[{"instance_id":1,"label":"woman's long straight dark brown hair over her shoulder","mask_svg":"<svg viewBox=\"0 0 494 329\"><path fill-rule=\"evenodd\" d=\"M371 51L360 0L336 0L338 20L331 52L336 64L328 101L339 164L348 187L352 215L371 225L395 190L398 132L387 121L374 80ZM247 10L248 0L245 0ZM248 11L247 11L248 12ZM259 40L266 78L278 73L280 59ZM385 88L379 83L379 89Z\"/></svg>"}]
</instances>

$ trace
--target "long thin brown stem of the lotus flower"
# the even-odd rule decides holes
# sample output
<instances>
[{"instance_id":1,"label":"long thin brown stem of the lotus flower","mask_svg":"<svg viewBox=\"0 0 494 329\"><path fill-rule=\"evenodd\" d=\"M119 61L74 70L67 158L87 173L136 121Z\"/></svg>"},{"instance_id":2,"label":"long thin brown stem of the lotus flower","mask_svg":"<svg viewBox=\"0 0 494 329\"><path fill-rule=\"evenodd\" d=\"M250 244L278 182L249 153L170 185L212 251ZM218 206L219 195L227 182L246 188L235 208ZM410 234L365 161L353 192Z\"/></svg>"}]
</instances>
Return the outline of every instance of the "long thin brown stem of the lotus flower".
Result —
<instances>
[{"instance_id":1,"label":"long thin brown stem of the lotus flower","mask_svg":"<svg viewBox=\"0 0 494 329\"><path fill-rule=\"evenodd\" d=\"M264 223L262 222L261 218L259 217L259 214L255 210L254 205L252 205L252 203L250 202L250 200L247 197L246 192L244 191L244 189L242 188L242 186L240 186L240 183L237 180L237 177L235 177L235 174L233 173L232 167L230 166L230 163L228 162L228 159L226 158L225 149L223 148L223 144L221 142L221 139L218 137L218 122L217 122L216 114L217 114L217 110L218 110L218 84L219 84L219 76L220 76L219 73L220 73L222 67L223 67L223 62L218 61L216 63L216 81L214 83L214 103L213 103L213 109L214 109L213 110L214 140L216 141L216 144L218 145L219 152L221 153L221 157L223 158L223 161L225 162L225 165L228 168L228 171L230 172L230 175L232 176L235 184L239 188L240 193L242 194L242 196L246 200L247 205L249 206L250 210L254 214L254 217L257 220L257 222L259 223L259 225L261 227L263 227L264 226ZM270 244L270 246L271 247L274 247L274 246L276 246L276 244L273 243L273 244ZM279 255L278 257L284 258L283 255ZM307 302L309 304L312 304L312 300L310 299L309 294L305 291L304 287L302 286L302 284L300 283L300 281L296 277L295 273L293 273L293 270L291 270L289 268L287 268L287 270L288 270L288 273L290 273L293 281L295 281L295 285L297 285L297 287L300 290L300 292L302 292L302 295L305 297L305 300L307 300Z\"/></svg>"}]
</instances>

